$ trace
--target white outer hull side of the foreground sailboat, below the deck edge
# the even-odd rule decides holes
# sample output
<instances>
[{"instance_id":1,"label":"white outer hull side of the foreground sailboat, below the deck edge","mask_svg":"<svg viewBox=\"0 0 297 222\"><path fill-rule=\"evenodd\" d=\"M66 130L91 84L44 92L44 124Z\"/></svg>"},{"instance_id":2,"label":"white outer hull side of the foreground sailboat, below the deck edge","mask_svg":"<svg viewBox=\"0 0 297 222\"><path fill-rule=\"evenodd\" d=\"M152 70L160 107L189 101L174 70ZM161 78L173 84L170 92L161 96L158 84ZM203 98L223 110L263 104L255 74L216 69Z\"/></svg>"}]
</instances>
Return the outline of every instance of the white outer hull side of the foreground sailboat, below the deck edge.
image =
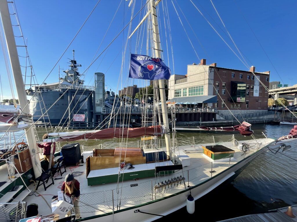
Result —
<instances>
[{"instance_id":1,"label":"white outer hull side of the foreground sailboat, below the deck edge","mask_svg":"<svg viewBox=\"0 0 297 222\"><path fill-rule=\"evenodd\" d=\"M195 200L198 200L200 197L211 192L220 184L224 183L225 181L230 181L238 170L241 170L247 163L255 159L258 155L264 152L266 148L260 149L259 151L255 152L252 155L249 155L245 159L241 160L237 164L231 166L230 168L226 169L225 171L209 178L208 180L204 181L202 184L198 184L193 186L191 189L191 195L194 197ZM187 184L186 184L187 185ZM190 191L189 189L184 190L182 192L164 197L162 199L158 199L152 202L148 202L143 205L137 205L135 207L125 208L123 210L115 211L113 214L105 214L105 215L97 215L94 217L86 218L85 221L122 221L123 218L129 218L129 221L154 221L162 216L158 215L168 215L170 213L175 212L176 210L181 209L182 207L186 206L186 200L189 196ZM135 213L135 210L139 210L140 212ZM145 214L145 213L150 214ZM154 215L151 215L154 214Z\"/></svg>"}]
</instances>

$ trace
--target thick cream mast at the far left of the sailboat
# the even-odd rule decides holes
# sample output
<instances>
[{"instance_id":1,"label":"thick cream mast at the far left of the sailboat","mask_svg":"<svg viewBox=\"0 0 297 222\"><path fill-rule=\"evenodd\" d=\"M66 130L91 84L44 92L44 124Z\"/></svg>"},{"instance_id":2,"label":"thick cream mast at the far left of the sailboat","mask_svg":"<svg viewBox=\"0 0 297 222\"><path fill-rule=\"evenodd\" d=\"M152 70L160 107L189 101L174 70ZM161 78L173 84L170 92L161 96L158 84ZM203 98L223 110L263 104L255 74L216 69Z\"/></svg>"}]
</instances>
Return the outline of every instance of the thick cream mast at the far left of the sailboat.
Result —
<instances>
[{"instance_id":1,"label":"thick cream mast at the far left of the sailboat","mask_svg":"<svg viewBox=\"0 0 297 222\"><path fill-rule=\"evenodd\" d=\"M2 20L2 25L4 29L4 34L7 43L8 54L10 57L10 63L12 67L12 73L15 80L15 86L18 93L18 99L20 103L20 107L22 108L22 115L27 115L29 119L30 110L27 104L27 95L25 91L25 85L23 82L23 76L20 69L20 61L18 58L18 51L15 44L15 37L12 30L12 24L10 20L10 14L8 10L7 0L0 0L0 15ZM25 129L26 138L29 146L30 155L32 158L32 165L35 174L35 178L39 177L42 173L41 165L40 165L40 157L39 152L36 145L36 139L34 135L34 129L31 128L32 123L24 121L29 125L28 128Z\"/></svg>"}]
</instances>

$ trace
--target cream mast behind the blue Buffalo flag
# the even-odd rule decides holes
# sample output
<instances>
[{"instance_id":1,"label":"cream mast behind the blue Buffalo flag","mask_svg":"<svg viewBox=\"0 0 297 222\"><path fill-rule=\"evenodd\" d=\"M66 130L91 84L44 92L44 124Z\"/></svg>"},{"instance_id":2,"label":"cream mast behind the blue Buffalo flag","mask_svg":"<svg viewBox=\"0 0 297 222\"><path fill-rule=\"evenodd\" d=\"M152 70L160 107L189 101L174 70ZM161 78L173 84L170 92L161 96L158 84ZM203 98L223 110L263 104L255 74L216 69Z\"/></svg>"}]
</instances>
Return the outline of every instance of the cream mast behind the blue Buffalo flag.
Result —
<instances>
[{"instance_id":1,"label":"cream mast behind the blue Buffalo flag","mask_svg":"<svg viewBox=\"0 0 297 222\"><path fill-rule=\"evenodd\" d=\"M158 1L159 2L159 1ZM151 0L151 20L153 22L153 40L154 40L154 52L155 57L161 58L161 42L159 37L159 27L156 13L156 4L154 0ZM166 107L166 96L165 96L165 84L164 80L158 80L159 82L159 90L160 90L160 99L161 99L161 109L162 109L162 117L163 117L163 125L165 127L165 132L169 132L169 121L168 121L168 113ZM167 155L171 156L171 141L170 134L165 133L165 142L166 142L166 152Z\"/></svg>"}]
</instances>

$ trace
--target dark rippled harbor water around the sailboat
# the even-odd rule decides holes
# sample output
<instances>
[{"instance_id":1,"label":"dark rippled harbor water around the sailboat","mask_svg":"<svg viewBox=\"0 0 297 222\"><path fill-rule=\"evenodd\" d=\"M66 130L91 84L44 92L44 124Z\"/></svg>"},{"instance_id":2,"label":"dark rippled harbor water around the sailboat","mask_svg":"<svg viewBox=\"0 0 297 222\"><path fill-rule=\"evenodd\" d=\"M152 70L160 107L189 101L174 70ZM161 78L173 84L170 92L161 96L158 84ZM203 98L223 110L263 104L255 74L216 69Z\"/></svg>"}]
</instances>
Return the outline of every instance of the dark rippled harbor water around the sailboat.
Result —
<instances>
[{"instance_id":1,"label":"dark rippled harbor water around the sailboat","mask_svg":"<svg viewBox=\"0 0 297 222\"><path fill-rule=\"evenodd\" d=\"M2 106L1 109L13 109L13 106ZM255 133L263 132L267 137L277 139L287 135L293 126L253 124ZM42 135L52 132L52 128L37 127L36 132L39 140ZM63 130L61 130L63 131ZM178 132L177 137L222 135L224 132ZM13 137L18 142L26 141L24 131L9 135L0 133L0 146L4 148L14 143ZM138 138L129 139L139 140ZM120 139L80 141L81 145L93 146L99 143L120 142ZM220 221L242 215L265 212L280 207L297 204L297 141L286 143L292 147L285 152L273 154L269 150L251 161L240 174L206 194L195 202L195 213L188 214L186 207L158 221L172 220L179 216L187 217L195 221ZM182 145L182 144L179 144ZM186 202L186 200L185 200ZM153 212L151 212L153 213ZM206 218L203 219L202 218Z\"/></svg>"}]
</instances>

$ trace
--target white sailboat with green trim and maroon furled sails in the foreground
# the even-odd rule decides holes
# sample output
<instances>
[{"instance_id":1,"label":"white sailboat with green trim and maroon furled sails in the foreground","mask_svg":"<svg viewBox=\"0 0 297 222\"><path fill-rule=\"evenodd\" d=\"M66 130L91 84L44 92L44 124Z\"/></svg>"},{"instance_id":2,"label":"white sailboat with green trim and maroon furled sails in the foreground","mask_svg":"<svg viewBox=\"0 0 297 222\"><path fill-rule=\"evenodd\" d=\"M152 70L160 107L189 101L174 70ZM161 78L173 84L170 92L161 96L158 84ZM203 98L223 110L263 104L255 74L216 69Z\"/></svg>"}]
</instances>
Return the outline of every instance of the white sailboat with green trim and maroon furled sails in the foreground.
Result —
<instances>
[{"instance_id":1,"label":"white sailboat with green trim and maroon furled sails in the foreground","mask_svg":"<svg viewBox=\"0 0 297 222\"><path fill-rule=\"evenodd\" d=\"M149 18L152 21L151 35L154 42L154 54L144 57L155 62L161 60L156 13L158 3L159 1L148 1L148 12L142 20L143 22ZM45 171L41 168L36 138L30 121L6 0L0 0L0 13L22 109L17 112L5 110L1 112L10 113L10 120L7 120L7 124L10 125L7 131L12 126L18 126L17 120L20 116L23 117L24 124L27 125L25 131L30 156L26 160L31 161L32 165L32 168L23 169L22 173L12 162L16 159L13 155L11 155L12 158L5 159L4 165L7 169L5 167L2 169L3 175L7 175L6 170L8 170L11 176L10 181L0 187L0 193L4 194L0 199L0 211L4 208L6 210L8 206L10 208L5 211L8 213L0 214L0 219L19 221L26 218L26 205L31 204L38 205L39 215L50 215L52 197L57 193L57 184L64 181L64 176L60 172L61 177L58 174L55 180L52 180L52 184L51 180L45 182L44 189L42 186L37 189L34 184L34 178L45 175ZM146 67L153 70L151 64ZM157 75L157 73L153 74ZM142 77L141 74L139 77ZM59 144L63 141L79 142L115 137L145 138L138 142L123 140L123 142L103 147L102 144L84 147L83 156L86 155L84 156L86 163L80 163L74 169L75 172L80 172L75 177L80 182L79 209L82 218L79 221L154 221L184 206L187 206L189 213L194 213L195 200L228 181L266 148L277 151L285 150L288 148L285 143L297 137L297 126L295 126L289 135L277 140L266 138L266 136L256 138L253 136L251 125L243 122L236 127L224 129L238 131L240 134L189 137L185 139L187 142L177 141L175 132L170 131L169 128L164 80L154 80L154 87L160 92L162 110L158 114L162 114L162 124L141 128L107 128L95 131L49 133L50 137L44 140L44 142ZM220 129L217 130L220 131ZM60 152L55 153L55 157L60 158ZM70 168L67 169L70 170ZM16 170L17 178L12 177L14 170ZM50 173L47 176L49 178ZM7 180L5 176L1 178ZM30 182L30 179L34 182ZM14 186L16 182L19 187ZM18 195L19 192L21 193ZM57 216L59 219L64 218L63 214Z\"/></svg>"}]
</instances>

